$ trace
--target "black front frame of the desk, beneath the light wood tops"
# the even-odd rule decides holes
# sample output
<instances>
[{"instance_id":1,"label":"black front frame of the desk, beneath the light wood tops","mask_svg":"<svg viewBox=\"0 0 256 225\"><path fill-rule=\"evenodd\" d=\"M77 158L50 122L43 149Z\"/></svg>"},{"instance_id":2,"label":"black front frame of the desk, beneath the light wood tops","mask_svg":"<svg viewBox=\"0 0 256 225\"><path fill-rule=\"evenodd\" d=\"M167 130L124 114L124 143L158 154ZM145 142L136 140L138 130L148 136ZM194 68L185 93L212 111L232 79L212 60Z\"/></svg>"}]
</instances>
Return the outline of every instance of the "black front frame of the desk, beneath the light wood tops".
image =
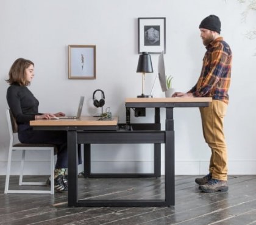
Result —
<instances>
[{"instance_id":1,"label":"black front frame of the desk, beneath the light wood tops","mask_svg":"<svg viewBox=\"0 0 256 225\"><path fill-rule=\"evenodd\" d=\"M165 131L114 131L115 126L34 126L37 130L66 130L68 135L68 206L174 206L174 120L175 107L205 107L208 102L126 103L126 108L166 108ZM129 125L129 116L127 125ZM78 199L77 146L79 144L165 144L165 199Z\"/></svg>"}]
</instances>

